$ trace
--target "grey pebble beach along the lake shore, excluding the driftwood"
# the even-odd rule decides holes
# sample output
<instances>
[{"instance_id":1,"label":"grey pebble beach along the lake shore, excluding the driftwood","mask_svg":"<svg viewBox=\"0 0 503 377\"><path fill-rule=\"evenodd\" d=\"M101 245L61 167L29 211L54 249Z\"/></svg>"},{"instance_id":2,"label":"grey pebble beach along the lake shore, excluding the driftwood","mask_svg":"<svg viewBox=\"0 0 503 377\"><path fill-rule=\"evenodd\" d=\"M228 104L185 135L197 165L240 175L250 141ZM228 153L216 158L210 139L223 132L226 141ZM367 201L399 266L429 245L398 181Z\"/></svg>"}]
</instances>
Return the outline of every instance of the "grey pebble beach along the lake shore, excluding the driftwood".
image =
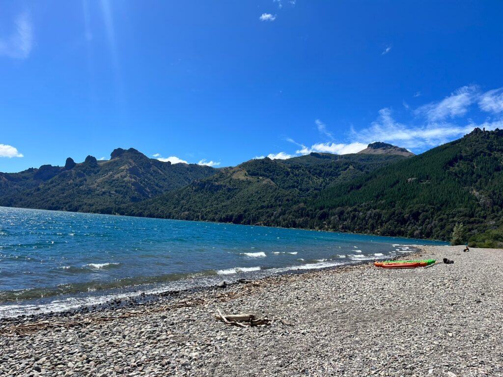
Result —
<instances>
[{"instance_id":1,"label":"grey pebble beach along the lake shore, excluding the driftwood","mask_svg":"<svg viewBox=\"0 0 503 377\"><path fill-rule=\"evenodd\" d=\"M273 276L154 303L0 322L0 376L503 376L503 250L454 264ZM282 317L235 327L224 314Z\"/></svg>"}]
</instances>

